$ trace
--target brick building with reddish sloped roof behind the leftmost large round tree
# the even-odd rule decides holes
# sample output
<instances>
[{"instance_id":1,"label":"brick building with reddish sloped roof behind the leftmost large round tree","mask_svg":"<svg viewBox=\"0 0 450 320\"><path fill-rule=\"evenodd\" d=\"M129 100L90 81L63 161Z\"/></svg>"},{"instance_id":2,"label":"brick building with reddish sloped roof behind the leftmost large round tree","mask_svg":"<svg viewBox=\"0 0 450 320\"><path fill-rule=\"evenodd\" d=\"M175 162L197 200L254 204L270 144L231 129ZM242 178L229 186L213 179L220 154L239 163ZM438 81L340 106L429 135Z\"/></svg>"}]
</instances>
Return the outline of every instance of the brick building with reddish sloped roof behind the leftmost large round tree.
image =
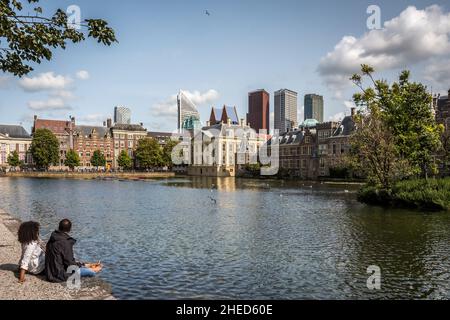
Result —
<instances>
[{"instance_id":1,"label":"brick building with reddish sloped roof behind the leftmost large round tree","mask_svg":"<svg viewBox=\"0 0 450 320\"><path fill-rule=\"evenodd\" d=\"M34 116L32 134L38 129L48 129L59 141L59 164L56 167L60 169L65 168L64 162L67 152L74 149L75 126L75 118L73 117L70 121L64 121L38 119L37 116Z\"/></svg>"}]
</instances>

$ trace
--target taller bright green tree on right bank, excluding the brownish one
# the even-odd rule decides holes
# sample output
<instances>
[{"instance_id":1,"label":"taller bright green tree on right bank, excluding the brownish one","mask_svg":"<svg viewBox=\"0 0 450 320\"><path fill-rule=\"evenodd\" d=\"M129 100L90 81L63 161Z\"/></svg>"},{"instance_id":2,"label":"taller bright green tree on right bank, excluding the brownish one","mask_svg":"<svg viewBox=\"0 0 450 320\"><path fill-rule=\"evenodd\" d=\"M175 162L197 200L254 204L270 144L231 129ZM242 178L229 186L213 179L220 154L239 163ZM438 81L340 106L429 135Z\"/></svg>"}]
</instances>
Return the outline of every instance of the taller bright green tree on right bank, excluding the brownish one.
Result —
<instances>
[{"instance_id":1,"label":"taller bright green tree on right bank, excluding the brownish one","mask_svg":"<svg viewBox=\"0 0 450 320\"><path fill-rule=\"evenodd\" d=\"M436 124L426 86L411 82L409 71L403 71L398 82L391 85L386 80L375 80L373 73L372 67L362 65L361 74L352 76L361 89L353 97L355 103L363 115L376 115L383 130L392 134L398 160L409 166L411 175L428 177L436 173L434 155L441 147L443 127ZM364 87L365 79L372 86Z\"/></svg>"}]
</instances>

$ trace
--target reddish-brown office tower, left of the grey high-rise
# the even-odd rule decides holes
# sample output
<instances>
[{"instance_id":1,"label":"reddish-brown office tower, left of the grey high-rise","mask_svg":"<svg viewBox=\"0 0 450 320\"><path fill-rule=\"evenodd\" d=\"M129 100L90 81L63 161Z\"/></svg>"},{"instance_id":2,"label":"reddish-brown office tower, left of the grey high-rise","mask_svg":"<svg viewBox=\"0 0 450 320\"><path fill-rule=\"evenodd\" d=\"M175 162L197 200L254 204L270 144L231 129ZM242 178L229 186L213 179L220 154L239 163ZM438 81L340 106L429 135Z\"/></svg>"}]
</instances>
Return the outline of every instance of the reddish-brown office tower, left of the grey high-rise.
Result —
<instances>
[{"instance_id":1,"label":"reddish-brown office tower, left of the grey high-rise","mask_svg":"<svg viewBox=\"0 0 450 320\"><path fill-rule=\"evenodd\" d=\"M247 123L259 133L270 129L270 94L266 90L257 90L248 94Z\"/></svg>"}]
</instances>

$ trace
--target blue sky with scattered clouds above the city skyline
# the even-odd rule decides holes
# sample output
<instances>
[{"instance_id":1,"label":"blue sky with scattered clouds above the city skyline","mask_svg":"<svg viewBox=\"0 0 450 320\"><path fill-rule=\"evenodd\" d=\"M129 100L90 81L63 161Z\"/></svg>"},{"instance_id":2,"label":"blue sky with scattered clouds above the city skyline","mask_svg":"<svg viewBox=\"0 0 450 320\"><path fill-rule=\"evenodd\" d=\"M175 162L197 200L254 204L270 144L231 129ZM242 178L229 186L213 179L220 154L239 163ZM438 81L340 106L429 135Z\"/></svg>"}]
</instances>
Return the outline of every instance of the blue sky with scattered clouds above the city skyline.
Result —
<instances>
[{"instance_id":1,"label":"blue sky with scattered clouds above the city skyline","mask_svg":"<svg viewBox=\"0 0 450 320\"><path fill-rule=\"evenodd\" d=\"M203 123L212 106L236 106L248 92L282 88L324 96L325 120L350 113L361 63L390 81L402 69L430 91L450 88L450 3L365 0L41 0L44 15L77 5L81 18L102 18L116 31L111 47L92 39L56 50L23 78L0 72L0 123L33 115L102 125L116 105L151 131L176 129L176 94L197 104ZM371 30L370 5L381 28ZM210 15L205 14L208 10ZM373 21L373 20L370 20ZM0 41L2 39L0 38ZM2 41L3 43L4 41Z\"/></svg>"}]
</instances>

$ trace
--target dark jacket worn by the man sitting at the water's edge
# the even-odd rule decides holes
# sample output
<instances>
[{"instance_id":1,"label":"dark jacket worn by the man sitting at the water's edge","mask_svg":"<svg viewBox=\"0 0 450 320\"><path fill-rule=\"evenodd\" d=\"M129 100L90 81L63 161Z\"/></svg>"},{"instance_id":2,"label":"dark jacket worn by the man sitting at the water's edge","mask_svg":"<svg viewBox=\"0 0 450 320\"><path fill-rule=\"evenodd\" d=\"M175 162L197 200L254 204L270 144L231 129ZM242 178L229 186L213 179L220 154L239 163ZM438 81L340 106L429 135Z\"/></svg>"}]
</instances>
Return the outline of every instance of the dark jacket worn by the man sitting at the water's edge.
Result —
<instances>
[{"instance_id":1,"label":"dark jacket worn by the man sitting at the water's edge","mask_svg":"<svg viewBox=\"0 0 450 320\"><path fill-rule=\"evenodd\" d=\"M77 241L65 232L55 231L45 250L45 275L50 282L65 282L69 266L79 266L73 257L73 246Z\"/></svg>"}]
</instances>

